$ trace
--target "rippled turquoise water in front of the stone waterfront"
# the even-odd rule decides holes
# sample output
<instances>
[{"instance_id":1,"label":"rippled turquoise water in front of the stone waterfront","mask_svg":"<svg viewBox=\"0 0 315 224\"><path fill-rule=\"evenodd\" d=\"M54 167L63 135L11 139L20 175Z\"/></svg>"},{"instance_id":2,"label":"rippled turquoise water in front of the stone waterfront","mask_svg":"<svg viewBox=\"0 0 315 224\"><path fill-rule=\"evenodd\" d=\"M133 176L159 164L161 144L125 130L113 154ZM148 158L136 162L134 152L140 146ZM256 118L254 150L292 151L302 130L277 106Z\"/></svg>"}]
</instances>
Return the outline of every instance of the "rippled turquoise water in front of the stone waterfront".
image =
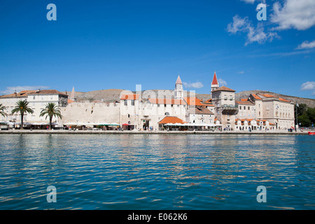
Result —
<instances>
[{"instance_id":1,"label":"rippled turquoise water in front of the stone waterfront","mask_svg":"<svg viewBox=\"0 0 315 224\"><path fill-rule=\"evenodd\" d=\"M314 146L307 135L1 134L0 209L315 209Z\"/></svg>"}]
</instances>

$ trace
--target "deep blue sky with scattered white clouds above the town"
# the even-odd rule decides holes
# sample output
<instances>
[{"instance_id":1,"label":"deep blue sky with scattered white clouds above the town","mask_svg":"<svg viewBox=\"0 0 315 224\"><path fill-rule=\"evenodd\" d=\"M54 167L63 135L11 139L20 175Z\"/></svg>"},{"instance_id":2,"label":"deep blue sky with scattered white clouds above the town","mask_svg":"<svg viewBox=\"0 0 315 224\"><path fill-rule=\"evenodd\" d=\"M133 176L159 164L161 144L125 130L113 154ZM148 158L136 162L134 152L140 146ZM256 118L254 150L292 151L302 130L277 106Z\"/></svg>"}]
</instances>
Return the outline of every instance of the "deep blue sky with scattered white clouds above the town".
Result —
<instances>
[{"instance_id":1,"label":"deep blue sky with scattered white clouds above the town","mask_svg":"<svg viewBox=\"0 0 315 224\"><path fill-rule=\"evenodd\" d=\"M172 90L178 73L209 93L216 71L237 92L315 96L314 1L1 1L0 27L0 94Z\"/></svg>"}]
</instances>

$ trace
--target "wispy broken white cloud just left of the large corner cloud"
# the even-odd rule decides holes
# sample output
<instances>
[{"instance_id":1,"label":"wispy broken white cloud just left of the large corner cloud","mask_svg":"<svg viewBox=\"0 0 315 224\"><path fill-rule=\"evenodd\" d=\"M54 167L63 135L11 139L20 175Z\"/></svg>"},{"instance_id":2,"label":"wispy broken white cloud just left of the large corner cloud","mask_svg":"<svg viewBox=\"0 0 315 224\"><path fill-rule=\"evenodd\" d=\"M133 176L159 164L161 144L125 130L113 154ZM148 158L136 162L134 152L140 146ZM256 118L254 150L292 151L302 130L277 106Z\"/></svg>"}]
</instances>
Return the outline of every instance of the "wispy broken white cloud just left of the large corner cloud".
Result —
<instances>
[{"instance_id":1,"label":"wispy broken white cloud just left of the large corner cloud","mask_svg":"<svg viewBox=\"0 0 315 224\"><path fill-rule=\"evenodd\" d=\"M253 42L262 44L266 41L271 42L274 38L279 38L278 34L274 32L265 32L262 23L258 23L257 27L253 27L247 17L240 18L239 15L233 17L233 22L228 24L227 30L231 34L237 34L238 32L247 33L245 45Z\"/></svg>"}]
</instances>

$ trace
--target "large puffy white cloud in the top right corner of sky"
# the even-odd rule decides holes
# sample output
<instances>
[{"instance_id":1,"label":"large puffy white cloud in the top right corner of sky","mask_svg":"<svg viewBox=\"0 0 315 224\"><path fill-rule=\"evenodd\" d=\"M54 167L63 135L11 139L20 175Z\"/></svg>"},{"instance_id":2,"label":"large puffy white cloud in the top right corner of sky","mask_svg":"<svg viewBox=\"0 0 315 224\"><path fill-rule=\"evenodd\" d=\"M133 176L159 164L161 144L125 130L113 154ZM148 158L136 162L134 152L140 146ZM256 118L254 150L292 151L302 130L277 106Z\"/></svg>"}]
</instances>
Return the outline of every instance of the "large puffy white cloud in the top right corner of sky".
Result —
<instances>
[{"instance_id":1,"label":"large puffy white cloud in the top right corner of sky","mask_svg":"<svg viewBox=\"0 0 315 224\"><path fill-rule=\"evenodd\" d=\"M315 25L314 0L286 0L283 6L274 3L271 21L278 27L275 29L305 30Z\"/></svg>"}]
</instances>

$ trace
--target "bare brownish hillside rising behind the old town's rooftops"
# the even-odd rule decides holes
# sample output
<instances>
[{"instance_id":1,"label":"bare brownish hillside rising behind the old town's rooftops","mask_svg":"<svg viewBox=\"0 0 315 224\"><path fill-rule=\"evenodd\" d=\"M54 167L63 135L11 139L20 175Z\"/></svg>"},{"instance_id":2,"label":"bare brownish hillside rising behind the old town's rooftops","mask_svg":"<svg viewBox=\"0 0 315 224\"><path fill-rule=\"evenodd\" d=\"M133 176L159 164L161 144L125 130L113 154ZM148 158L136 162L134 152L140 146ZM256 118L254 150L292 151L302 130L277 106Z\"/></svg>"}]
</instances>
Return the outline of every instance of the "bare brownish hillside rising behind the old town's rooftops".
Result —
<instances>
[{"instance_id":1,"label":"bare brownish hillside rising behind the old town's rooftops","mask_svg":"<svg viewBox=\"0 0 315 224\"><path fill-rule=\"evenodd\" d=\"M95 90L90 92L76 92L77 102L89 101L93 102L94 100L104 101L104 102L115 102L120 100L120 93L123 90L120 89L111 89L111 90ZM173 90L152 90L158 96L158 91L173 91ZM65 92L64 92L65 93ZM135 92L134 92L135 93ZM281 97L283 99L291 100L292 102L297 102L298 104L307 104L309 107L315 107L315 99L308 99L302 97L293 97L287 96L284 94L279 94L276 92L268 92L265 90L246 90L242 92L237 92L235 94L235 99L239 101L240 99L246 99L252 93L261 93L261 94L272 94L276 97ZM71 94L71 92L67 92L67 94ZM203 101L207 101L210 99L210 94L200 94L196 93L196 97L202 99Z\"/></svg>"}]
</instances>

